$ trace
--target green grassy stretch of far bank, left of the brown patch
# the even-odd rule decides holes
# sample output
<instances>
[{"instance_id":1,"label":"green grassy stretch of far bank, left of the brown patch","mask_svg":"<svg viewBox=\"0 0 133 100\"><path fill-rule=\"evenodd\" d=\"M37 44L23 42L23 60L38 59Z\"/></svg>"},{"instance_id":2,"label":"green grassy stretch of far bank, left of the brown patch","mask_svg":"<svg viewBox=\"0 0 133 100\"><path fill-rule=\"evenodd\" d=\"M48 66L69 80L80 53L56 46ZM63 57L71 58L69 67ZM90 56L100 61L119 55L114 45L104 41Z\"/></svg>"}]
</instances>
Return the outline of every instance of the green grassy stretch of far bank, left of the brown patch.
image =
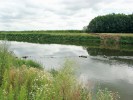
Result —
<instances>
[{"instance_id":1,"label":"green grassy stretch of far bank, left of the brown patch","mask_svg":"<svg viewBox=\"0 0 133 100\"><path fill-rule=\"evenodd\" d=\"M99 43L100 38L95 35L84 33L43 33L43 32L26 32L16 33L0 33L0 39L10 41L25 41L33 43L56 43L56 44L84 44L84 43Z\"/></svg>"}]
</instances>

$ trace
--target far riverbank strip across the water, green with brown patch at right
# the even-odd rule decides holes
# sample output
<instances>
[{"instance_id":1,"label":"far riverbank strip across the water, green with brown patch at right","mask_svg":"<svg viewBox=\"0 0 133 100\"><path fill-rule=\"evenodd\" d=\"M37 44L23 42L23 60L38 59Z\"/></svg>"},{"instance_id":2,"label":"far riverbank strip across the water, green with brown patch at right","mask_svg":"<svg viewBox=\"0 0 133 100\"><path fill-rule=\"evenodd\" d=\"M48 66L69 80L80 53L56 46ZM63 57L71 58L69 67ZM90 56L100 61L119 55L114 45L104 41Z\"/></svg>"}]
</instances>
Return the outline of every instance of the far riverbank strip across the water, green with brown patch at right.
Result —
<instances>
[{"instance_id":1,"label":"far riverbank strip across the water, green with brown patch at right","mask_svg":"<svg viewBox=\"0 0 133 100\"><path fill-rule=\"evenodd\" d=\"M133 34L115 33L83 33L79 31L14 31L0 32L0 39L9 41L25 41L32 43L56 43L56 44L133 44Z\"/></svg>"}]
</instances>

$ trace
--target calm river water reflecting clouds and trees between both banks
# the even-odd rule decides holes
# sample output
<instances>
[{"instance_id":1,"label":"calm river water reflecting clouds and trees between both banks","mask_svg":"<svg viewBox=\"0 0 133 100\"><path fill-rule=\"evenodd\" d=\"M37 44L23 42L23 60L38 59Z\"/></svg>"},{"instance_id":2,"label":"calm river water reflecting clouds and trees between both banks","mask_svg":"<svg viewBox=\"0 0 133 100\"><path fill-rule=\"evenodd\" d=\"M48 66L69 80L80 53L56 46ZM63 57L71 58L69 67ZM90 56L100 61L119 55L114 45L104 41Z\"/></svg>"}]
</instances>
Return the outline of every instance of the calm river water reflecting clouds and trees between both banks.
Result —
<instances>
[{"instance_id":1,"label":"calm river water reflecting clouds and trees between both banks","mask_svg":"<svg viewBox=\"0 0 133 100\"><path fill-rule=\"evenodd\" d=\"M20 58L28 56L43 64L45 69L61 68L69 59L80 81L88 87L100 83L101 87L119 92L120 100L133 100L133 52L26 42L10 42L10 50Z\"/></svg>"}]
</instances>

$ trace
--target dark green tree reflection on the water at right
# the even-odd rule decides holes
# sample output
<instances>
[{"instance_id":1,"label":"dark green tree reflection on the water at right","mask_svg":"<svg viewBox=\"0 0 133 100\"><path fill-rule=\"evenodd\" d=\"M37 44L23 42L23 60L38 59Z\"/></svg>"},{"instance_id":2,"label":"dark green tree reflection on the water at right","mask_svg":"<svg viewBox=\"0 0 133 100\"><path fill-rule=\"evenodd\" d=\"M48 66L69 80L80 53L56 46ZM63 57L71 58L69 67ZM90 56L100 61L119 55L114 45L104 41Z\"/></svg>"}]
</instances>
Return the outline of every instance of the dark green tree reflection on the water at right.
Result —
<instances>
[{"instance_id":1,"label":"dark green tree reflection on the water at right","mask_svg":"<svg viewBox=\"0 0 133 100\"><path fill-rule=\"evenodd\" d=\"M110 65L124 64L132 67L133 65L133 51L129 50L112 50L107 48L87 48L90 56L95 56L92 59L98 62L107 63Z\"/></svg>"}]
</instances>

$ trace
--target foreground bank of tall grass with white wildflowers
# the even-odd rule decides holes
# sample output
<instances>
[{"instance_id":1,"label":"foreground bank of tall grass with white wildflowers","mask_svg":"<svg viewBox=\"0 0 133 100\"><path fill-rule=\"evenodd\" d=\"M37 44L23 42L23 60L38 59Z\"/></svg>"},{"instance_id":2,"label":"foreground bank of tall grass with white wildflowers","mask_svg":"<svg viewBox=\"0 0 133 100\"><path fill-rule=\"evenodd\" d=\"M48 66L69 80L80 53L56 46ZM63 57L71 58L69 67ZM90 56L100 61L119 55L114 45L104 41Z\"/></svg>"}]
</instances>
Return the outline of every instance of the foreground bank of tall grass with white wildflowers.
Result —
<instances>
[{"instance_id":1,"label":"foreground bank of tall grass with white wildflowers","mask_svg":"<svg viewBox=\"0 0 133 100\"><path fill-rule=\"evenodd\" d=\"M0 45L0 100L117 100L112 91L95 92L82 87L66 62L50 72L39 64L16 58L8 46Z\"/></svg>"}]
</instances>

